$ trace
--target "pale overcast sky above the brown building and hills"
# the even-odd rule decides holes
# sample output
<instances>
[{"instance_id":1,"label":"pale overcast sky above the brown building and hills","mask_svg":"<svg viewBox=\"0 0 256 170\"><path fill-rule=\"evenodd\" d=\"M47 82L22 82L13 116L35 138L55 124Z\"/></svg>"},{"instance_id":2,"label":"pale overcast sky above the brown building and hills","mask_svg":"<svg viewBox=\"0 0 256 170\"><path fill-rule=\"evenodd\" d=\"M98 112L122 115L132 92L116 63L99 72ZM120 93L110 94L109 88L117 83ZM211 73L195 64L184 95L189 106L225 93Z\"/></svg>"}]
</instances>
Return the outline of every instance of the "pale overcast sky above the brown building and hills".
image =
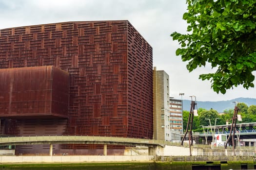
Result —
<instances>
[{"instance_id":1,"label":"pale overcast sky above the brown building and hills","mask_svg":"<svg viewBox=\"0 0 256 170\"><path fill-rule=\"evenodd\" d=\"M186 63L175 55L179 47L171 33L186 32L182 15L186 0L0 0L0 29L65 21L129 20L153 47L153 64L170 77L170 96L197 101L225 101L238 97L256 98L256 90L242 87L225 95L211 89L211 83L198 79L211 68L188 72ZM254 82L256 85L256 81ZM239 101L238 101L239 102Z\"/></svg>"}]
</instances>

